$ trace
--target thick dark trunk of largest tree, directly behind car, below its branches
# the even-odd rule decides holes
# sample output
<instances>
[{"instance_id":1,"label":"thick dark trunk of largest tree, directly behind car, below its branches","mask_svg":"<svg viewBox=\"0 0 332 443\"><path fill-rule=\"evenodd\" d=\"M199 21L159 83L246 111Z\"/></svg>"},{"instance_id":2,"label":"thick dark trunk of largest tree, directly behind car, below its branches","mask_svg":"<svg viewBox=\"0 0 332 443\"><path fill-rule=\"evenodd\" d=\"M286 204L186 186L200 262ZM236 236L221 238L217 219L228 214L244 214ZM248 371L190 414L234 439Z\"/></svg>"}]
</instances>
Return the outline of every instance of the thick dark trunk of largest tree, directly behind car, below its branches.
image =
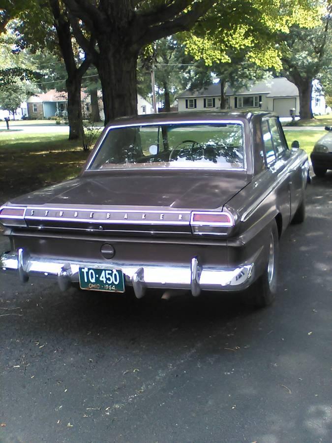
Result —
<instances>
[{"instance_id":1,"label":"thick dark trunk of largest tree, directly behind car, below its branches","mask_svg":"<svg viewBox=\"0 0 332 443\"><path fill-rule=\"evenodd\" d=\"M121 41L99 43L97 70L103 91L105 125L111 120L137 114L136 67L138 54L121 45Z\"/></svg>"}]
</instances>

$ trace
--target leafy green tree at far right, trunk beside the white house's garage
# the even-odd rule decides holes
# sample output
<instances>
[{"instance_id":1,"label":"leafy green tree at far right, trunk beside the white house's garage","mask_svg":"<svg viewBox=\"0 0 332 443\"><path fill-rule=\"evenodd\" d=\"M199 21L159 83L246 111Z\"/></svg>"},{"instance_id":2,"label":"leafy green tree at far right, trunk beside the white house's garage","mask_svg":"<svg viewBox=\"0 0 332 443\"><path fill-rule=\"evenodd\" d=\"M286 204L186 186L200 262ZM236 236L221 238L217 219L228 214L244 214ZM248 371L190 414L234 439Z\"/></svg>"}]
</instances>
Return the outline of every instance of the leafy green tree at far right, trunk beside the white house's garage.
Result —
<instances>
[{"instance_id":1,"label":"leafy green tree at far right, trunk beside the white house's garage","mask_svg":"<svg viewBox=\"0 0 332 443\"><path fill-rule=\"evenodd\" d=\"M313 80L323 75L331 65L331 15L320 26L303 29L293 26L281 43L282 73L299 90L300 118L312 119L311 97Z\"/></svg>"}]
</instances>

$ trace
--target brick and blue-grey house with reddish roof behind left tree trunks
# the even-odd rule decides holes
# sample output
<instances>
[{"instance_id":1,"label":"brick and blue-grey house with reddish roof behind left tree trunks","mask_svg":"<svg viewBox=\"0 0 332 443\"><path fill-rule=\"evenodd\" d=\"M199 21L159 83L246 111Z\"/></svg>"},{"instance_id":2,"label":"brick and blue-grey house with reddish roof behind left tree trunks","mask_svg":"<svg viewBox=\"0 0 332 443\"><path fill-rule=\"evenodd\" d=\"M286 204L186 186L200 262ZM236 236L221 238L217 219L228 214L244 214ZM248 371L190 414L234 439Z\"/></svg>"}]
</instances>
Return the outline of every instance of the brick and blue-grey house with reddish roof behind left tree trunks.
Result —
<instances>
[{"instance_id":1,"label":"brick and blue-grey house with reddish roof behind left tree trunks","mask_svg":"<svg viewBox=\"0 0 332 443\"><path fill-rule=\"evenodd\" d=\"M98 104L101 120L104 120L104 111L102 103L101 92L98 91ZM91 98L90 94L85 91L81 91L82 112L83 115L89 115L91 112ZM45 94L35 94L28 98L28 117L30 119L48 119L57 115L57 112L63 112L67 110L67 93L58 92L55 89L51 89ZM137 95L137 112L141 114L151 114L153 112L151 103L143 98L141 95Z\"/></svg>"}]
</instances>

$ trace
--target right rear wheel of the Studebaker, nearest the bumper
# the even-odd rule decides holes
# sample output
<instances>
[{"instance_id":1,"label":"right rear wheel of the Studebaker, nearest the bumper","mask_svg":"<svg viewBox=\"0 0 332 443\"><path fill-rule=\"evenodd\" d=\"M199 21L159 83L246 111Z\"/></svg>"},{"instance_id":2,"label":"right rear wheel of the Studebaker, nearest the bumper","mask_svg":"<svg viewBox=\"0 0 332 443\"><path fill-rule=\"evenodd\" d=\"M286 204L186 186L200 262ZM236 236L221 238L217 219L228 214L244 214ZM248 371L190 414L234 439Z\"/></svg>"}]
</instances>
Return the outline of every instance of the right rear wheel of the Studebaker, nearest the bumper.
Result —
<instances>
[{"instance_id":1,"label":"right rear wheel of the Studebaker, nearest the bumper","mask_svg":"<svg viewBox=\"0 0 332 443\"><path fill-rule=\"evenodd\" d=\"M264 308L272 304L277 289L277 269L279 256L279 236L276 222L272 224L267 253L267 265L264 274L249 288L251 299L256 308Z\"/></svg>"}]
</instances>

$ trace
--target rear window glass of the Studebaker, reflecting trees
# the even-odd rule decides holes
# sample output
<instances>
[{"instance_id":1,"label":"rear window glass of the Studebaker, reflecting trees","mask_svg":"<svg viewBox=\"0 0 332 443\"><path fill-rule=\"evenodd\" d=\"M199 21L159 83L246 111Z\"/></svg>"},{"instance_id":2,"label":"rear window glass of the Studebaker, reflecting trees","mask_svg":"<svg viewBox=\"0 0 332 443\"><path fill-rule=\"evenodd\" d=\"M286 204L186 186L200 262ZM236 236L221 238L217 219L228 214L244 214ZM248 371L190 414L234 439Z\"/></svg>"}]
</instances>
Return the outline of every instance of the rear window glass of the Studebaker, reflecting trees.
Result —
<instances>
[{"instance_id":1,"label":"rear window glass of the Studebaker, reflecting trees","mask_svg":"<svg viewBox=\"0 0 332 443\"><path fill-rule=\"evenodd\" d=\"M90 169L243 169L241 123L161 124L111 128Z\"/></svg>"}]
</instances>

